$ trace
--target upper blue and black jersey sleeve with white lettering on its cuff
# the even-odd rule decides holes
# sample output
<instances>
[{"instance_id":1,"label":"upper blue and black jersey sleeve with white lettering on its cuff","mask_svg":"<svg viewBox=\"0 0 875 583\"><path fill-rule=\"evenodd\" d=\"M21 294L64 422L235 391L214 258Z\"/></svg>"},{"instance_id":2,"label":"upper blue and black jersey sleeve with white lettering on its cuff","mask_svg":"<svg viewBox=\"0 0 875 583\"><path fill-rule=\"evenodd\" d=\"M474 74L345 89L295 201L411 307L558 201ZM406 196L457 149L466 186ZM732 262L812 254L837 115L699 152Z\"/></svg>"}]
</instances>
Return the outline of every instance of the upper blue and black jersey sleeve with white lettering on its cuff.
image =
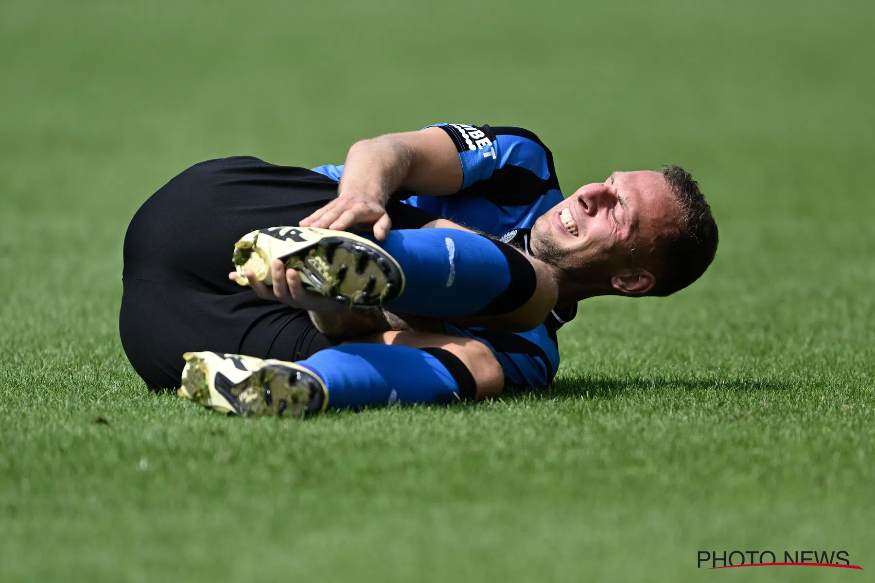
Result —
<instances>
[{"instance_id":1,"label":"upper blue and black jersey sleeve with white lettering on its cuff","mask_svg":"<svg viewBox=\"0 0 875 583\"><path fill-rule=\"evenodd\" d=\"M443 129L456 145L464 173L460 192L516 206L559 190L552 153L528 129L464 123L429 127Z\"/></svg>"}]
</instances>

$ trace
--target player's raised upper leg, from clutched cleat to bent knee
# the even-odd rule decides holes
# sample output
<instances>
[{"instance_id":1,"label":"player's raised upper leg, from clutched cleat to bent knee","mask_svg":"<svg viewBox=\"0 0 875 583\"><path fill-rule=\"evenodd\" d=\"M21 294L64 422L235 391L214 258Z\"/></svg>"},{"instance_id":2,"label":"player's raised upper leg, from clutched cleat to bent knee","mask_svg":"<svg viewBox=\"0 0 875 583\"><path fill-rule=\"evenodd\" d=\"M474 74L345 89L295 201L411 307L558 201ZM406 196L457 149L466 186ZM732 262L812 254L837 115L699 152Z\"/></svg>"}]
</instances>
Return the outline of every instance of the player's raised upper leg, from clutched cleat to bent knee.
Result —
<instances>
[{"instance_id":1,"label":"player's raised upper leg, from clutched cleat to bent knee","mask_svg":"<svg viewBox=\"0 0 875 583\"><path fill-rule=\"evenodd\" d=\"M324 295L416 316L490 318L491 327L530 330L556 303L556 281L541 261L464 230L392 231L377 245L352 233L271 227L237 245L241 274L267 278L269 260L282 258Z\"/></svg>"}]
</instances>

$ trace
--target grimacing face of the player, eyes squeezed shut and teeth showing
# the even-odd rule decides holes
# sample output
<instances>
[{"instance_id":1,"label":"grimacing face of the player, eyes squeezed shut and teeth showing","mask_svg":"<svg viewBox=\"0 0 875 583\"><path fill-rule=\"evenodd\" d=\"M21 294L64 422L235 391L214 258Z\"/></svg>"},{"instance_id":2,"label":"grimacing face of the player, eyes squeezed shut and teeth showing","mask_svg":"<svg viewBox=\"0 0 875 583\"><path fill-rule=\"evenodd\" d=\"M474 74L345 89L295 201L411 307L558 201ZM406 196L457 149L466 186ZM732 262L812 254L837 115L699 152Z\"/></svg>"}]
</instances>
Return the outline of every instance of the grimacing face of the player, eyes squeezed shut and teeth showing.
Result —
<instances>
[{"instance_id":1,"label":"grimacing face of the player, eyes squeezed shut and teeth showing","mask_svg":"<svg viewBox=\"0 0 875 583\"><path fill-rule=\"evenodd\" d=\"M614 172L605 182L581 186L537 219L532 249L565 270L621 269L631 256L645 259L656 237L676 230L679 220L676 198L662 174Z\"/></svg>"}]
</instances>

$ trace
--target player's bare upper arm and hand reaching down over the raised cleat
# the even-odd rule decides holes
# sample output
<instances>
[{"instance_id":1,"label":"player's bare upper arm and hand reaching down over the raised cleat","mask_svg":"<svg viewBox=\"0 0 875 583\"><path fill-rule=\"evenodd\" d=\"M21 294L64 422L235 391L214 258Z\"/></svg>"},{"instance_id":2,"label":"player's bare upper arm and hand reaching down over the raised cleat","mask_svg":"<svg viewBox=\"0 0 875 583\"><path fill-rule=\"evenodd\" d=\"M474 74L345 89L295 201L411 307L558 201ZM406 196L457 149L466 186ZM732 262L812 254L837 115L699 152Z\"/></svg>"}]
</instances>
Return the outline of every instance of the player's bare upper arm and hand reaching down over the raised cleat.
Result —
<instances>
[{"instance_id":1,"label":"player's bare upper arm and hand reaching down over the raised cleat","mask_svg":"<svg viewBox=\"0 0 875 583\"><path fill-rule=\"evenodd\" d=\"M383 240L391 221L386 203L398 189L420 196L457 192L462 186L462 163L450 135L441 128L388 134L356 142L346 155L338 198L301 221L301 226L346 230L374 224Z\"/></svg>"}]
</instances>

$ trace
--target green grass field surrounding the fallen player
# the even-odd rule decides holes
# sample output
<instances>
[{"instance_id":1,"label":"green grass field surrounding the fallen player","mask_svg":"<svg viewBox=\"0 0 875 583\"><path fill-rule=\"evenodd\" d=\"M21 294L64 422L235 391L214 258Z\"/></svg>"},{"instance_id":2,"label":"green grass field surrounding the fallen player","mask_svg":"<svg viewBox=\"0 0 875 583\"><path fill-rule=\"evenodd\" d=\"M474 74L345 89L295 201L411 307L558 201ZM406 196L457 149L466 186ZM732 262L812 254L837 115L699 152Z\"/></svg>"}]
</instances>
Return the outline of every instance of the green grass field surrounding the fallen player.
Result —
<instances>
[{"instance_id":1,"label":"green grass field surrounding the fallen player","mask_svg":"<svg viewBox=\"0 0 875 583\"><path fill-rule=\"evenodd\" d=\"M872 580L873 4L296 4L0 3L0 580ZM718 258L581 303L549 392L295 422L145 389L145 198L437 121L535 130L566 192L679 163Z\"/></svg>"}]
</instances>

